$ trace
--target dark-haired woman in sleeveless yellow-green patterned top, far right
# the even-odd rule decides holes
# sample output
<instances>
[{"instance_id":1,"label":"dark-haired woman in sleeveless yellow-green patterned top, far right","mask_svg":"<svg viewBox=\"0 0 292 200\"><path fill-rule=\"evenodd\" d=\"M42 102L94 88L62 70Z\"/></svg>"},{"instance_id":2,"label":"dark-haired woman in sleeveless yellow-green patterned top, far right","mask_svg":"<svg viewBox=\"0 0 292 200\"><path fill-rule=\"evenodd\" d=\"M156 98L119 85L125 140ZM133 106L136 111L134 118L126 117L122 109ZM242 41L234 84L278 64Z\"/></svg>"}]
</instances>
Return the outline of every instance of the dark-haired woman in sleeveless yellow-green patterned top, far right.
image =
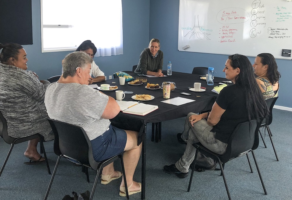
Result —
<instances>
[{"instance_id":1,"label":"dark-haired woman in sleeveless yellow-green patterned top, far right","mask_svg":"<svg viewBox=\"0 0 292 200\"><path fill-rule=\"evenodd\" d=\"M278 72L278 66L274 56L270 53L257 55L253 69L264 99L278 97L281 74Z\"/></svg>"}]
</instances>

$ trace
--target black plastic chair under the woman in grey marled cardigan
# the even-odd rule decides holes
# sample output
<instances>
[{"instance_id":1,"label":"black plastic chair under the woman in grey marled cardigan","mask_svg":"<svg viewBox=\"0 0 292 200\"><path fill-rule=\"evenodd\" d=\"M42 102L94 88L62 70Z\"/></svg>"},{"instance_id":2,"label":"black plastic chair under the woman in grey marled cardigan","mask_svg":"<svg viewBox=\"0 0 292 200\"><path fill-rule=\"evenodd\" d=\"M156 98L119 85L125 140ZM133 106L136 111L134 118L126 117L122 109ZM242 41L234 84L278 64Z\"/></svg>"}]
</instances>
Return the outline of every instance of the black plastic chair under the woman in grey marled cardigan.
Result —
<instances>
[{"instance_id":1,"label":"black plastic chair under the woman in grey marled cardigan","mask_svg":"<svg viewBox=\"0 0 292 200\"><path fill-rule=\"evenodd\" d=\"M44 144L43 144L43 141L44 141L44 137L40 134L34 134L34 135L31 135L31 136L27 136L27 137L23 137L23 138L13 138L13 137L10 137L8 136L8 132L7 132L7 122L6 122L6 119L3 117L1 111L0 111L0 137L4 139L4 141L7 143L7 144L11 144L11 147L8 151L8 154L6 156L6 159L4 161L4 164L2 165L1 167L1 170L0 170L0 176L4 170L4 167L7 163L7 160L11 154L11 151L13 149L13 146L15 144L19 144L19 143L22 143L22 142L25 142L25 141L29 141L29 140L33 140L33 139L36 139L36 138L39 138L40 139L40 148L42 149L43 153L44 153L44 158L46 159L46 164L47 164L47 169L48 169L48 173L51 174L51 171L50 171L50 166L48 164L48 159L47 159L47 156L46 156L46 151L45 151L45 148L44 148Z\"/></svg>"}]
</instances>

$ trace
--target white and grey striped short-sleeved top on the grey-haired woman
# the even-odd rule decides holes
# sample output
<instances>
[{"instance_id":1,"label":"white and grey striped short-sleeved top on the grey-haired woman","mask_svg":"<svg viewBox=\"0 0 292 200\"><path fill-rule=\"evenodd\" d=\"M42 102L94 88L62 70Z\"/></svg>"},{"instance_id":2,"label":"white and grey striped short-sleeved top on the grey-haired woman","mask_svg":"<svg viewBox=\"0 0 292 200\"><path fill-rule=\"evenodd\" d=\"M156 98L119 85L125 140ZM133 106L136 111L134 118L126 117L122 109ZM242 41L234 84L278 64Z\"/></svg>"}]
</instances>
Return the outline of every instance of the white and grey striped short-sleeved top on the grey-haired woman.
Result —
<instances>
[{"instance_id":1,"label":"white and grey striped short-sleeved top on the grey-haired woman","mask_svg":"<svg viewBox=\"0 0 292 200\"><path fill-rule=\"evenodd\" d=\"M82 127L89 140L102 135L110 121L101 118L109 97L88 85L51 83L45 94L49 117Z\"/></svg>"}]
</instances>

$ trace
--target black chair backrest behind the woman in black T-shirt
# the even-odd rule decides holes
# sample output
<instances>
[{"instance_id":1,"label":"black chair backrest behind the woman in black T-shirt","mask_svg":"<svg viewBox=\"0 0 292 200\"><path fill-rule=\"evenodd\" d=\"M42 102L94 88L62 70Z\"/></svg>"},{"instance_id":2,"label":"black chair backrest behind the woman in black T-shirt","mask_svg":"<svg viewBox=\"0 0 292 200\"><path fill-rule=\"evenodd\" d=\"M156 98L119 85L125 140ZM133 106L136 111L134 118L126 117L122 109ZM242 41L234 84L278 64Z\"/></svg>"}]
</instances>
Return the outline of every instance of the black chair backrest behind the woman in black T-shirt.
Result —
<instances>
[{"instance_id":1,"label":"black chair backrest behind the woman in black T-shirt","mask_svg":"<svg viewBox=\"0 0 292 200\"><path fill-rule=\"evenodd\" d=\"M229 138L226 153L222 156L221 161L225 163L228 160L245 155L246 152L251 150L256 134L258 136L256 130L256 120L238 124Z\"/></svg>"}]
</instances>

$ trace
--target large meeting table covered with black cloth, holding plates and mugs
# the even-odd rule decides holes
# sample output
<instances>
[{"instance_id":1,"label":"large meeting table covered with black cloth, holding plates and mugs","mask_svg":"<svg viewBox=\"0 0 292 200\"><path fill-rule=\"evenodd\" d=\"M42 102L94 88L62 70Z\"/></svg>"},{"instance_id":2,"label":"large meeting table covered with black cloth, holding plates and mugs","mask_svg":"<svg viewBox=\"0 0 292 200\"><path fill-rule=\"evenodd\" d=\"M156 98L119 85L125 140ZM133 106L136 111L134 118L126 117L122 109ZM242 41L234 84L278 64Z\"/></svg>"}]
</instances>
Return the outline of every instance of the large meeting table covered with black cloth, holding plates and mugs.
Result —
<instances>
[{"instance_id":1,"label":"large meeting table covered with black cloth, holding plates and mugs","mask_svg":"<svg viewBox=\"0 0 292 200\"><path fill-rule=\"evenodd\" d=\"M129 75L133 76L134 78L139 77L137 74L135 74L132 71L124 71L128 73ZM163 71L164 74L167 74L166 71ZM176 88L175 90L171 91L170 93L170 99L175 97L183 97L186 99L192 99L195 100L190 103L186 103L180 106L176 106L169 103L164 103L161 101L164 101L166 99L163 98L163 92L162 88L157 90L149 90L145 88L147 83L143 83L142 85L129 85L128 83L125 83L125 85L119 85L119 79L110 79L105 80L102 82L98 82L95 84L98 84L100 86L101 84L107 83L111 86L118 86L117 90L123 90L123 91L131 91L133 94L125 94L125 98L123 101L136 101L132 99L132 96L135 94L150 94L154 96L154 99L149 101L143 101L145 104L151 104L151 105L157 105L158 109L154 110L153 112L145 115L133 115L133 114L126 114L120 112L116 117L111 119L111 123L113 126L116 126L121 129L125 130L134 130L139 132L138 136L138 144L143 142L142 145L142 193L141 193L141 199L145 199L145 165L146 165L146 152L145 152L145 137L146 137L146 124L152 123L156 124L156 142L157 139L160 139L161 135L157 134L159 132L157 129L160 129L161 134L161 122L167 121L167 120L173 120L180 117L186 117L188 113L199 113L206 110L211 110L218 94L215 92L212 92L211 90L213 87L219 86L219 82L223 80L227 80L225 78L219 78L214 77L214 85L207 85L206 80L200 79L199 75L197 74L189 74L189 73L182 73L182 72L172 72L171 76L165 76L165 77L143 77L147 78L147 81L149 83L153 84L159 84L162 85L162 82L164 81L171 81L175 82ZM201 87L206 87L206 91L204 92L192 92L188 88L194 87L195 82L200 82ZM111 91L102 91L104 94L107 94L110 97L113 97L115 99L115 90ZM191 94L190 96L185 96L180 94L181 92L186 92ZM141 102L141 101L140 101ZM160 126L158 124L160 123ZM181 124L183 126L183 124ZM158 135L158 136L157 136ZM154 126L152 125L152 141L154 137Z\"/></svg>"}]
</instances>

